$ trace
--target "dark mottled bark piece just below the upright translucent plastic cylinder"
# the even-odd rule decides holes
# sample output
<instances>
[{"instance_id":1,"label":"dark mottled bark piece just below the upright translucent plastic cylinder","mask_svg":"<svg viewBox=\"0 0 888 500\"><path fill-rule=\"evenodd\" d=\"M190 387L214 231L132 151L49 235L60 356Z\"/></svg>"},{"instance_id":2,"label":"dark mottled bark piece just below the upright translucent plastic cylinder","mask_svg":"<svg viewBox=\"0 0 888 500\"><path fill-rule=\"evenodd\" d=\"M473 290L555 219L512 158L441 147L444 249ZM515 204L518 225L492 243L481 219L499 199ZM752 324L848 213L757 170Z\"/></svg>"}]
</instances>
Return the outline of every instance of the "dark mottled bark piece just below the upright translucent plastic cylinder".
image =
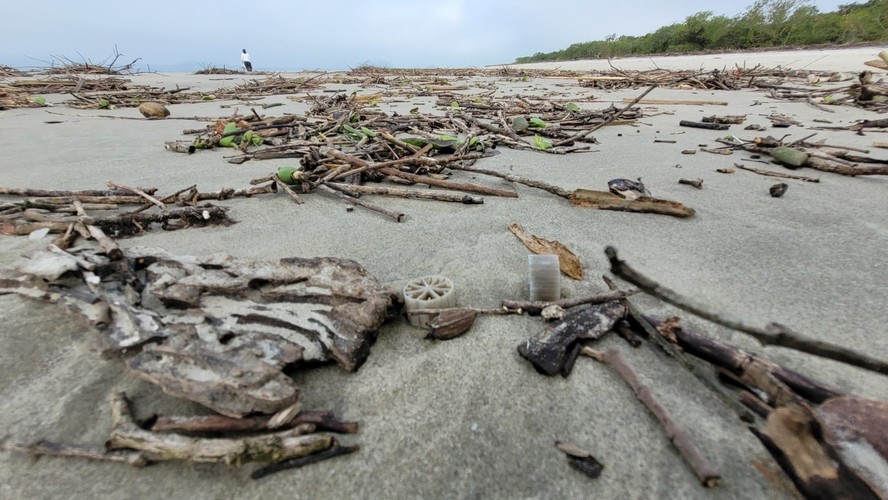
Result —
<instances>
[{"instance_id":1,"label":"dark mottled bark piece just below the upright translucent plastic cylinder","mask_svg":"<svg viewBox=\"0 0 888 500\"><path fill-rule=\"evenodd\" d=\"M567 376L570 373L567 365L575 344L580 340L601 338L625 316L626 306L618 301L571 311L555 325L519 345L518 353L542 374Z\"/></svg>"}]
</instances>

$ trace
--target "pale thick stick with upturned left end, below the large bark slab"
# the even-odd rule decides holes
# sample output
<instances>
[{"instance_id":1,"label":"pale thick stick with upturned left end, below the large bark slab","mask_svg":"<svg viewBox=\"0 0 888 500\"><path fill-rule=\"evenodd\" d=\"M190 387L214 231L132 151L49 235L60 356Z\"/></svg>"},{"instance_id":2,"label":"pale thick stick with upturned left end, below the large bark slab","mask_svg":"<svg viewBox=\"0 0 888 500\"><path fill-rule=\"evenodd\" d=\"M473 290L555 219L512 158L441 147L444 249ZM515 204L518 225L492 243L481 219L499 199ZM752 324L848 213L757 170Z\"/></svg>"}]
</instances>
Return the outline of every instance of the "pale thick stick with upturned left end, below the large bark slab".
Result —
<instances>
[{"instance_id":1,"label":"pale thick stick with upturned left end, below the large bark slab","mask_svg":"<svg viewBox=\"0 0 888 500\"><path fill-rule=\"evenodd\" d=\"M123 393L111 397L111 418L113 429L105 447L110 450L141 450L152 461L221 462L236 467L250 461L278 462L310 455L333 445L333 438L329 435L310 434L314 431L311 424L240 439L156 434L136 425Z\"/></svg>"}]
</instances>

